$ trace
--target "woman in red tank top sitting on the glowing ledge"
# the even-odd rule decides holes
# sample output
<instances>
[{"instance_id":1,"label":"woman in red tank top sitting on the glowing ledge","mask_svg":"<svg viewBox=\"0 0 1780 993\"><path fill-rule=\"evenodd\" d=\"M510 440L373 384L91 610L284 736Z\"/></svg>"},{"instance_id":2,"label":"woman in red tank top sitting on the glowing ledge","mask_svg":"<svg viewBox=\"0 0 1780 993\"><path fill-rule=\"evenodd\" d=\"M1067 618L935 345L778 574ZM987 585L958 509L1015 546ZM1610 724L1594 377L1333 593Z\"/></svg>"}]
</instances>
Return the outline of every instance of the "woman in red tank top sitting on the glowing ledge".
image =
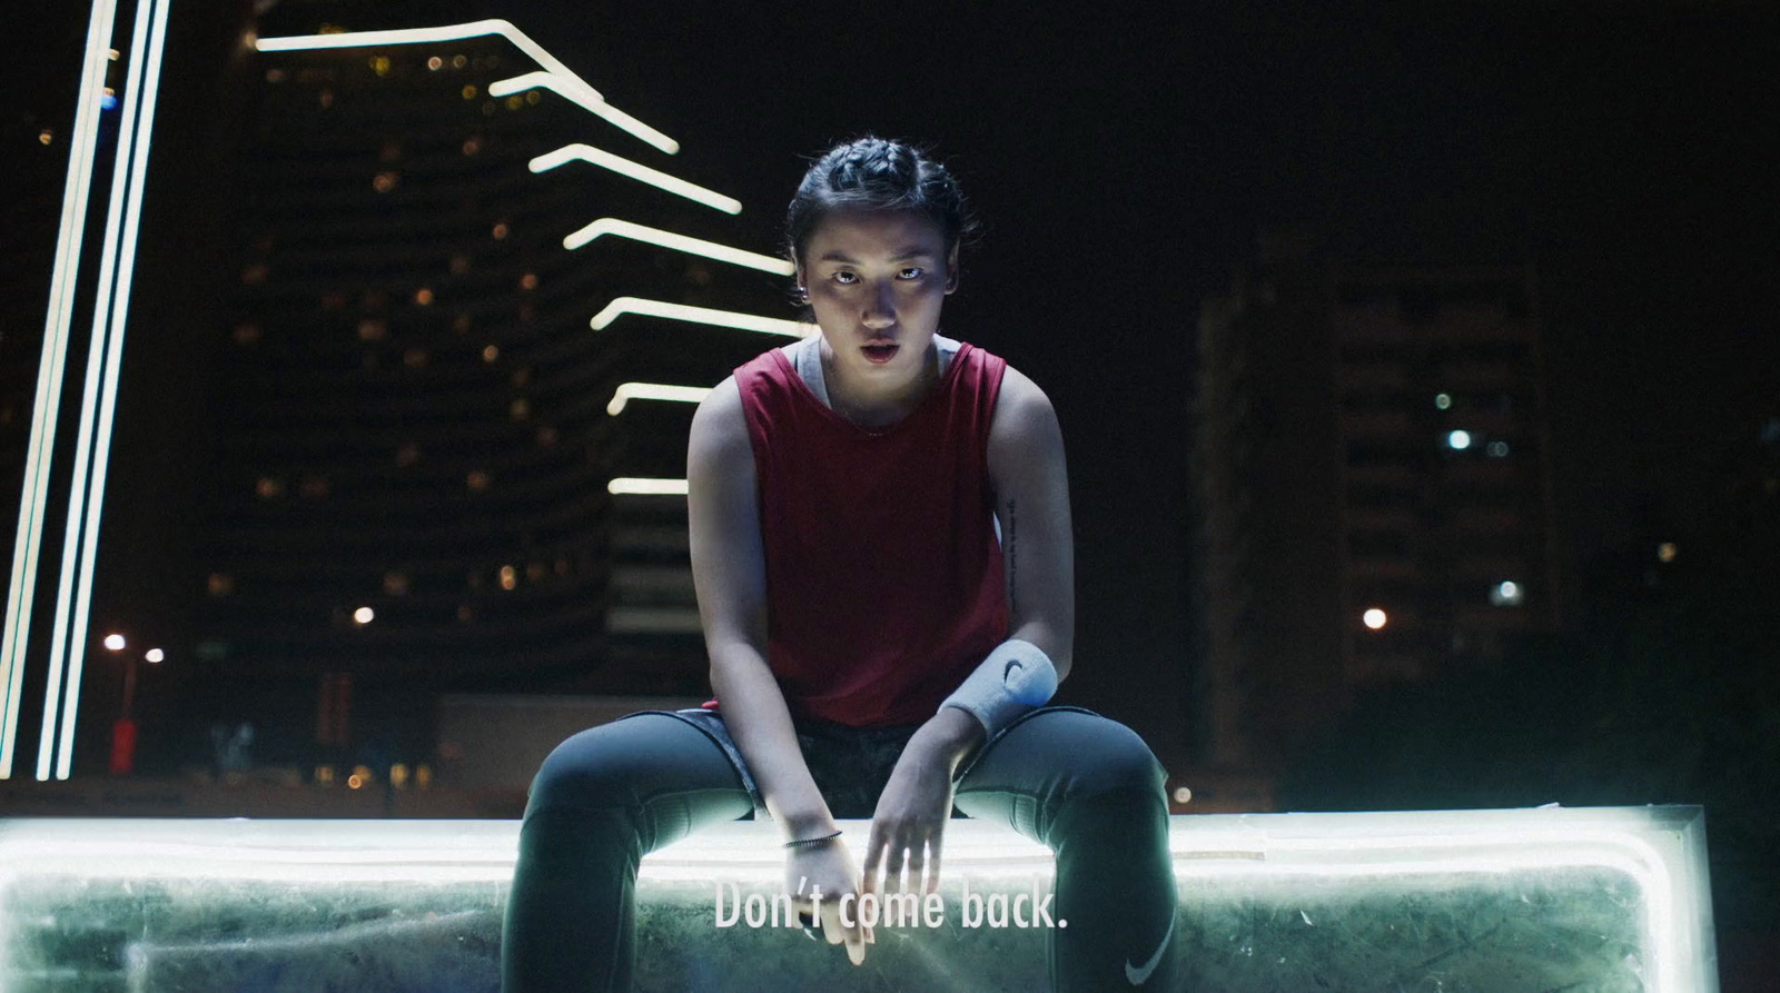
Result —
<instances>
[{"instance_id":1,"label":"woman in red tank top sitting on the glowing ledge","mask_svg":"<svg viewBox=\"0 0 1780 993\"><path fill-rule=\"evenodd\" d=\"M968 230L952 176L906 144L847 142L805 174L787 247L821 335L737 368L692 418L717 699L545 760L507 993L627 989L637 860L751 811L781 829L787 890L862 963L872 936L840 897L934 892L954 806L1057 852L1054 988L1171 988L1162 769L1125 726L1043 706L1075 610L1057 418L1031 379L938 333ZM858 865L847 817L872 824Z\"/></svg>"}]
</instances>

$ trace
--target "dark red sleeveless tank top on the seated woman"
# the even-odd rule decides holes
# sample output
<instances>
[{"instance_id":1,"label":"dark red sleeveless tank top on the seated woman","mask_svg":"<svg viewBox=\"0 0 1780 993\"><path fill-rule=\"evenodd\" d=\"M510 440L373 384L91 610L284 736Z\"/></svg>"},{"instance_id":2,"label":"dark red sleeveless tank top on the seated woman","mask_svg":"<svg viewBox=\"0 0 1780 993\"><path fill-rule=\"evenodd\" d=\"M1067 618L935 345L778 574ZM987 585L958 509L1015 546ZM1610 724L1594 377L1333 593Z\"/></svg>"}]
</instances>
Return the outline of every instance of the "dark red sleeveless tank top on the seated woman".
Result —
<instances>
[{"instance_id":1,"label":"dark red sleeveless tank top on the seated woman","mask_svg":"<svg viewBox=\"0 0 1780 993\"><path fill-rule=\"evenodd\" d=\"M1006 367L961 343L883 429L824 406L780 349L735 370L760 482L767 655L794 717L920 724L1006 641L988 473Z\"/></svg>"}]
</instances>

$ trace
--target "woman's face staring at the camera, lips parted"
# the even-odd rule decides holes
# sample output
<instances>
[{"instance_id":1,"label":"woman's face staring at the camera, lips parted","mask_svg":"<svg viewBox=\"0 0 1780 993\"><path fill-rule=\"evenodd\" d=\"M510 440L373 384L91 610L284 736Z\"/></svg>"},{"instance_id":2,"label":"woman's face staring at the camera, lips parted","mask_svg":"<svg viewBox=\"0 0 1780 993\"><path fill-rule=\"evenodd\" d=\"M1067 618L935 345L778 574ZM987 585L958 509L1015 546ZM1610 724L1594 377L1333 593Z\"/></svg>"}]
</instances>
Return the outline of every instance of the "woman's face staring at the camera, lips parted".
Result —
<instances>
[{"instance_id":1,"label":"woman's face staring at the camera, lips parted","mask_svg":"<svg viewBox=\"0 0 1780 993\"><path fill-rule=\"evenodd\" d=\"M885 386L922 374L956 272L958 249L947 253L940 226L906 212L837 210L797 260L840 375Z\"/></svg>"}]
</instances>

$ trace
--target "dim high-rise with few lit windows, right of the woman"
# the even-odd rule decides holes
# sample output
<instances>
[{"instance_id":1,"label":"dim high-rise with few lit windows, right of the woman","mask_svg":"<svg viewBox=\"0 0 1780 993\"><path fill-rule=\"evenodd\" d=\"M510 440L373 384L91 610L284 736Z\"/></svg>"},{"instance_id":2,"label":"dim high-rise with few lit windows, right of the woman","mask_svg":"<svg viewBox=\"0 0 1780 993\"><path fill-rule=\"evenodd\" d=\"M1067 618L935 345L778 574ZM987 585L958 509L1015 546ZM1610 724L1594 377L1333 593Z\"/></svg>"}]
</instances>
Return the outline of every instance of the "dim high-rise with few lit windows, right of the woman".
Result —
<instances>
[{"instance_id":1,"label":"dim high-rise with few lit windows, right of the woman","mask_svg":"<svg viewBox=\"0 0 1780 993\"><path fill-rule=\"evenodd\" d=\"M1274 762L1380 680L1490 664L1559 616L1533 278L1346 265L1305 237L1200 320L1202 698Z\"/></svg>"}]
</instances>

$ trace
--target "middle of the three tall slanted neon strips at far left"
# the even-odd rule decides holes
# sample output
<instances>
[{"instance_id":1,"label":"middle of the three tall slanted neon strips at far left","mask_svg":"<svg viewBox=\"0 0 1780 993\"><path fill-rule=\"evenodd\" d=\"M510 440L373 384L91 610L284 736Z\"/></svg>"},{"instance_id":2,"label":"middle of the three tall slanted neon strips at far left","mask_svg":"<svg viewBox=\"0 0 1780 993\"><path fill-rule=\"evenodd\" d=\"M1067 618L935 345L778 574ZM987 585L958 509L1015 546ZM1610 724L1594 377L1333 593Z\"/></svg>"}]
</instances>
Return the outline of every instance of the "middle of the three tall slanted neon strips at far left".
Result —
<instances>
[{"instance_id":1,"label":"middle of the three tall slanted neon strips at far left","mask_svg":"<svg viewBox=\"0 0 1780 993\"><path fill-rule=\"evenodd\" d=\"M85 520L85 498L93 463L93 422L98 418L100 379L105 374L105 333L109 329L109 303L116 294L117 247L123 228L123 205L130 198L130 149L135 144L135 116L142 107L142 69L148 48L148 25L153 20L153 0L144 0L135 12L135 30L130 37L130 77L125 82L123 114L117 119L117 157L112 164L110 206L105 212L105 246L100 251L100 281L93 304L93 336L87 345L87 383L80 395L80 434L75 447L75 475L68 496L68 527L62 532L62 577L55 589L55 623L50 628L50 678L43 689L43 728L37 735L37 779L50 778L55 755L57 708L64 694L64 664L71 637L75 610L75 580L78 578L80 527ZM84 637L84 632L82 632ZM77 646L80 651L84 646ZM73 692L78 687L69 687ZM71 731L69 731L71 733Z\"/></svg>"}]
</instances>

